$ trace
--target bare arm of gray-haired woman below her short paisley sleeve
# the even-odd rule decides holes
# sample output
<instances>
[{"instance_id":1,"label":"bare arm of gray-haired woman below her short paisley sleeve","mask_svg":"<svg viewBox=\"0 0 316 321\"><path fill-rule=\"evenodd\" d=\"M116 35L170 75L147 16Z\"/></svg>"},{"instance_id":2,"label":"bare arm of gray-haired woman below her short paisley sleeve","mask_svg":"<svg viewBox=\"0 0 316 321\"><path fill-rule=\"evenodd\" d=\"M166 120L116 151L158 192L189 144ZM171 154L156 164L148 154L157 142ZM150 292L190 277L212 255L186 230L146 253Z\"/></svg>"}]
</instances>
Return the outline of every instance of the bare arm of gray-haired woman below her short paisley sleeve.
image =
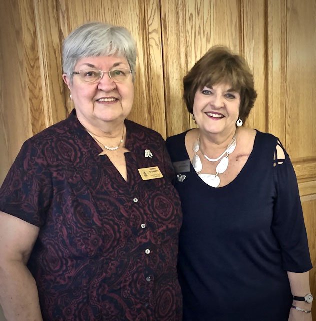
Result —
<instances>
[{"instance_id":1,"label":"bare arm of gray-haired woman below her short paisley sleeve","mask_svg":"<svg viewBox=\"0 0 316 321\"><path fill-rule=\"evenodd\" d=\"M0 211L0 305L7 321L42 321L35 280L26 264L39 228Z\"/></svg>"}]
</instances>

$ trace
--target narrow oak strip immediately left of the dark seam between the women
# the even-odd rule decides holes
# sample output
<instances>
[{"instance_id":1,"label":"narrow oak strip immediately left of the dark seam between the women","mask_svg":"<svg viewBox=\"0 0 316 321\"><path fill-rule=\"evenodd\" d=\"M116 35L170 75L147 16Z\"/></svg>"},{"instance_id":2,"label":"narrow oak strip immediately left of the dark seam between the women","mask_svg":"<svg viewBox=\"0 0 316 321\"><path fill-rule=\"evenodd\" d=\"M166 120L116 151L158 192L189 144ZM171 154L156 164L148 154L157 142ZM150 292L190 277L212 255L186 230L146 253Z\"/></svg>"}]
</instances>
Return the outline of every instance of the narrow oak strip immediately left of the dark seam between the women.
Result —
<instances>
[{"instance_id":1,"label":"narrow oak strip immediately left of the dark seam between the women","mask_svg":"<svg viewBox=\"0 0 316 321\"><path fill-rule=\"evenodd\" d=\"M137 100L132 110L131 119L146 118L146 126L157 130L166 138L166 115L164 97L164 79L162 66L162 39L159 1L139 1L144 18L139 19L139 83L136 87L137 97L145 96L145 100ZM139 91L140 89L140 91Z\"/></svg>"}]
</instances>

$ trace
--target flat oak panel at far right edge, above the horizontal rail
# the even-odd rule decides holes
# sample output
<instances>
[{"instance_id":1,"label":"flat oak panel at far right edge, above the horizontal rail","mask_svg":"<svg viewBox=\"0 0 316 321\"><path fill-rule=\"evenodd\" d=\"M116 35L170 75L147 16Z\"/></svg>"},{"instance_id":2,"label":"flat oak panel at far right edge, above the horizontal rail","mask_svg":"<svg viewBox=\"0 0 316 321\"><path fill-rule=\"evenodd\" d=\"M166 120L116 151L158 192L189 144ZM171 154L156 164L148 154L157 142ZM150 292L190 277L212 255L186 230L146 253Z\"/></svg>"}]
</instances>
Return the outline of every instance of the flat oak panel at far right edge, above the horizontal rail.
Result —
<instances>
[{"instance_id":1,"label":"flat oak panel at far right edge, above the horizontal rail","mask_svg":"<svg viewBox=\"0 0 316 321\"><path fill-rule=\"evenodd\" d=\"M287 0L287 150L316 167L316 2Z\"/></svg>"}]
</instances>

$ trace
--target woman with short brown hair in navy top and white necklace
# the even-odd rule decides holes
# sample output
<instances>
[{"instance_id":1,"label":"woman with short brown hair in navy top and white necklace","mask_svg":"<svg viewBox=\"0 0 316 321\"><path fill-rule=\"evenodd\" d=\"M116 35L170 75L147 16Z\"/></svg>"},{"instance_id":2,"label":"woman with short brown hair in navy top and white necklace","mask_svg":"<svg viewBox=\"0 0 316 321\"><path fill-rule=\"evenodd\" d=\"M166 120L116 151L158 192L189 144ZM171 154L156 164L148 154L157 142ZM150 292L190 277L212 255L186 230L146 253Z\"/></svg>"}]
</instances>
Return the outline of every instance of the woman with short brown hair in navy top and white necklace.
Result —
<instances>
[{"instance_id":1,"label":"woman with short brown hair in navy top and white necklace","mask_svg":"<svg viewBox=\"0 0 316 321\"><path fill-rule=\"evenodd\" d=\"M183 211L183 320L311 320L291 161L278 138L242 126L257 97L248 64L213 47L183 84L198 128L167 139Z\"/></svg>"}]
</instances>

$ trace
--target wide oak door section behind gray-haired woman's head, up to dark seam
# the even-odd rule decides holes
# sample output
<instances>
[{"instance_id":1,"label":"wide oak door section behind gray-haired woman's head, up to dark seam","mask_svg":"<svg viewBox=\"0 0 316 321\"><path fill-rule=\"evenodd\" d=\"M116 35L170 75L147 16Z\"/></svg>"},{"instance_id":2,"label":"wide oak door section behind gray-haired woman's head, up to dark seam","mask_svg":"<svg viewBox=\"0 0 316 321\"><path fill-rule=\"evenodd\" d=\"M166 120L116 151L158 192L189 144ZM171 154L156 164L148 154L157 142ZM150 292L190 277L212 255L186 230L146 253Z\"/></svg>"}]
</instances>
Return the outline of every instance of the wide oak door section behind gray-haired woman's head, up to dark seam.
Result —
<instances>
[{"instance_id":1,"label":"wide oak door section behind gray-haired woman's head, up to dark seam","mask_svg":"<svg viewBox=\"0 0 316 321\"><path fill-rule=\"evenodd\" d=\"M166 137L164 83L159 0L78 0L57 3L61 35L87 21L126 27L138 45L135 99L129 119L153 128ZM68 96L68 91L66 96ZM68 110L70 101L66 98Z\"/></svg>"}]
</instances>

